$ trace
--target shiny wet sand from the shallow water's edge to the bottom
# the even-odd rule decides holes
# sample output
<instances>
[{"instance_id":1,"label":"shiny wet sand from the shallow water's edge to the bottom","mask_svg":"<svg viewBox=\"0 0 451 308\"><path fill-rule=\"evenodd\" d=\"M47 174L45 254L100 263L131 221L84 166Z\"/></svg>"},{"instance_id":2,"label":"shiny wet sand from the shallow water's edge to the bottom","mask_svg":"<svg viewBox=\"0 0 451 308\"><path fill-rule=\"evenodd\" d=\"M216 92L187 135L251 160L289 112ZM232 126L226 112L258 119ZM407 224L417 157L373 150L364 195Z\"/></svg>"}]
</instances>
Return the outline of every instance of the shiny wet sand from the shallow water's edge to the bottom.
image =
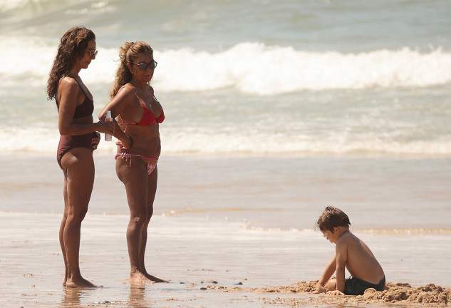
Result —
<instances>
[{"instance_id":1,"label":"shiny wet sand from the shallow water's edge to the bottom","mask_svg":"<svg viewBox=\"0 0 451 308\"><path fill-rule=\"evenodd\" d=\"M152 218L147 263L151 274L170 282L131 286L126 280L128 216L88 215L82 227L81 272L86 279L103 287L65 289L61 285L64 268L57 236L60 218L61 215L51 213L0 212L0 307L300 307L314 304L343 308L388 307L393 305L393 300L409 307L421 307L422 303L409 302L402 294L427 285L425 280L450 287L446 284L450 277L447 264L450 246L440 245L450 242L450 235L367 235L373 252L385 265L388 281L401 282L400 287L406 286L403 283L407 281L414 287L400 291L401 295L390 295L393 297L390 301L386 300L387 294L334 298L309 294L309 284L299 283L319 277L330 258L328 250L333 246L326 245L318 232L249 230L244 224L226 220L164 216ZM416 258L398 261L398 253L403 252L386 250L401 242L409 245L410 240L418 245ZM436 247L435 251L431 247ZM432 258L437 267L432 263L423 265L422 260Z\"/></svg>"}]
</instances>

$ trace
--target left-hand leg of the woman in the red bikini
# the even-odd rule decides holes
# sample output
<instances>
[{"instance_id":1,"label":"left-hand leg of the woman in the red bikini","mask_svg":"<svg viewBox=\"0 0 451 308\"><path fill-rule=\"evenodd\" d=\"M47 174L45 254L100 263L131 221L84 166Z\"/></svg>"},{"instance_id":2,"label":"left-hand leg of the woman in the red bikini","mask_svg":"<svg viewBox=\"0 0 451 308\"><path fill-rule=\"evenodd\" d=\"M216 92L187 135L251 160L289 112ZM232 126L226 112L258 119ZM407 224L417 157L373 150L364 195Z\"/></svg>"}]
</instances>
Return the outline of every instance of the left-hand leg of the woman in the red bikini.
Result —
<instances>
[{"instance_id":1,"label":"left-hand leg of the woman in the red bikini","mask_svg":"<svg viewBox=\"0 0 451 308\"><path fill-rule=\"evenodd\" d=\"M124 183L127 193L130 221L127 227L128 256L130 257L130 282L150 282L141 268L140 249L142 247L142 230L148 223L147 215L147 164L140 158L130 160L117 158L116 173Z\"/></svg>"}]
</instances>

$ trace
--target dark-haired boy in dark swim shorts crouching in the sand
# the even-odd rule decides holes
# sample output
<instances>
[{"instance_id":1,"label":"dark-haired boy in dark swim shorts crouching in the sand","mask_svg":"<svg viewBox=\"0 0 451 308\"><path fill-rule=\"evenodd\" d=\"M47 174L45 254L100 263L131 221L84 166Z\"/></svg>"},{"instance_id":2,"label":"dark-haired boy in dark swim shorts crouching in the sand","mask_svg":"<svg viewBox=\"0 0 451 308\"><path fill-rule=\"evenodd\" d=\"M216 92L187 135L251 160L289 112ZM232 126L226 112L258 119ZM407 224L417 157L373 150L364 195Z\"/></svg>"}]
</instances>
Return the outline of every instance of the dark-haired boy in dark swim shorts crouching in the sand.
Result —
<instances>
[{"instance_id":1,"label":"dark-haired boy in dark swim shorts crouching in the sand","mask_svg":"<svg viewBox=\"0 0 451 308\"><path fill-rule=\"evenodd\" d=\"M362 295L366 289L382 291L385 274L370 248L349 231L348 215L336 207L326 207L316 225L327 240L336 243L336 253L316 284L316 291L331 295ZM345 266L352 277L345 279ZM331 279L336 272L336 279ZM326 288L325 288L326 287Z\"/></svg>"}]
</instances>

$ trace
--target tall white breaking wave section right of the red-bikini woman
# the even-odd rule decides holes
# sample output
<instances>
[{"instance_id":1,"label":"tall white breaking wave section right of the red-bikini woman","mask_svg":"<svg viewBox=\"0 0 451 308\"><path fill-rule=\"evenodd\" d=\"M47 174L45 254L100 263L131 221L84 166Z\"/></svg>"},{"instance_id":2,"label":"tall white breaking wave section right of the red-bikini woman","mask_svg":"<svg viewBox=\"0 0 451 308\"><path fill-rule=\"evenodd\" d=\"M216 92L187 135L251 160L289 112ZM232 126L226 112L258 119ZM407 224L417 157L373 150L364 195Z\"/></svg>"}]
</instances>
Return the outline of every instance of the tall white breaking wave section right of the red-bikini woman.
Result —
<instances>
[{"instance_id":1,"label":"tall white breaking wave section right of the red-bikini woman","mask_svg":"<svg viewBox=\"0 0 451 308\"><path fill-rule=\"evenodd\" d=\"M239 43L222 53L182 49L162 52L158 58L162 61L162 72L156 81L165 91L233 87L243 93L275 95L451 82L451 53L440 48L430 53L405 47L397 51L346 54Z\"/></svg>"}]
</instances>

